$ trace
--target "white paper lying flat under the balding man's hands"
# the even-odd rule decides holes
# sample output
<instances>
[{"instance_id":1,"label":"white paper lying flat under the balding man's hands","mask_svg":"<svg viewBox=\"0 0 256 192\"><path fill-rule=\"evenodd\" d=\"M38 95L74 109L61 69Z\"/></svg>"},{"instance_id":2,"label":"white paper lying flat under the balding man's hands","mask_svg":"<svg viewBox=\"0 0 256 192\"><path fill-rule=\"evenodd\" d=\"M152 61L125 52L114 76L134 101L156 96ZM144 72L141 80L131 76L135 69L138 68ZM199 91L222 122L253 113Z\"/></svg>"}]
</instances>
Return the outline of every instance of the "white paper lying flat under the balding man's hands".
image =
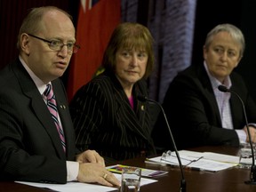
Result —
<instances>
[{"instance_id":1,"label":"white paper lying flat under the balding man's hands","mask_svg":"<svg viewBox=\"0 0 256 192\"><path fill-rule=\"evenodd\" d=\"M121 180L121 174L115 173L115 176L118 180ZM156 181L157 180L141 178L140 186L148 185ZM29 185L29 186L34 186L37 188L51 188L52 190L61 191L61 192L84 192L84 191L107 192L107 191L114 191L117 189L117 188L108 188L108 187L97 185L97 184L80 183L80 182L68 182L67 184L48 184L48 183L46 184L46 183L23 182L23 181L16 181L16 182Z\"/></svg>"}]
</instances>

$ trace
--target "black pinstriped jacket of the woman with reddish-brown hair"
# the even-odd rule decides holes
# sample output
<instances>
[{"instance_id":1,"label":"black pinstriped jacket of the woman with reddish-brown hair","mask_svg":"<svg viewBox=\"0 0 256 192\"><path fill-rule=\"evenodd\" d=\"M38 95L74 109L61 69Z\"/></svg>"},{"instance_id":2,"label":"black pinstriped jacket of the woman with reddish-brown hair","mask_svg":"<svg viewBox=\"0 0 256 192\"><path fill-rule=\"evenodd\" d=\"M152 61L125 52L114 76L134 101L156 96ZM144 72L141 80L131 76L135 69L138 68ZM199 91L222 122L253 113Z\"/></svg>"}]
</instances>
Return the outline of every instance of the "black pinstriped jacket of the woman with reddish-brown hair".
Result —
<instances>
[{"instance_id":1,"label":"black pinstriped jacket of the woman with reddish-brown hair","mask_svg":"<svg viewBox=\"0 0 256 192\"><path fill-rule=\"evenodd\" d=\"M69 104L76 130L76 147L96 149L101 156L116 160L155 153L147 96L147 84L134 84L134 110L115 75L104 72L84 85Z\"/></svg>"}]
</instances>

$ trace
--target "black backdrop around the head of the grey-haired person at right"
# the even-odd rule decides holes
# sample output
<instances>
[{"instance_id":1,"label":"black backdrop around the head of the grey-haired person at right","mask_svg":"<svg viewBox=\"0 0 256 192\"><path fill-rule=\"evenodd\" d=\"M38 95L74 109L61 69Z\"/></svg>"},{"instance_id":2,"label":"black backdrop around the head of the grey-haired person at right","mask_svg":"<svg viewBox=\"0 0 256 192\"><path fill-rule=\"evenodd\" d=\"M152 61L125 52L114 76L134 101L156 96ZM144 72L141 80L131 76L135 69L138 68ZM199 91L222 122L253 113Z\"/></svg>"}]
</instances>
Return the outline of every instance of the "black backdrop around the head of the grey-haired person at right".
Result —
<instances>
[{"instance_id":1,"label":"black backdrop around the head of the grey-haired person at right","mask_svg":"<svg viewBox=\"0 0 256 192\"><path fill-rule=\"evenodd\" d=\"M235 69L244 76L252 97L256 100L256 1L255 0L198 0L193 45L193 64L202 64L203 44L207 32L220 23L232 23L244 33L244 58ZM238 92L239 93L239 92Z\"/></svg>"}]
</instances>

